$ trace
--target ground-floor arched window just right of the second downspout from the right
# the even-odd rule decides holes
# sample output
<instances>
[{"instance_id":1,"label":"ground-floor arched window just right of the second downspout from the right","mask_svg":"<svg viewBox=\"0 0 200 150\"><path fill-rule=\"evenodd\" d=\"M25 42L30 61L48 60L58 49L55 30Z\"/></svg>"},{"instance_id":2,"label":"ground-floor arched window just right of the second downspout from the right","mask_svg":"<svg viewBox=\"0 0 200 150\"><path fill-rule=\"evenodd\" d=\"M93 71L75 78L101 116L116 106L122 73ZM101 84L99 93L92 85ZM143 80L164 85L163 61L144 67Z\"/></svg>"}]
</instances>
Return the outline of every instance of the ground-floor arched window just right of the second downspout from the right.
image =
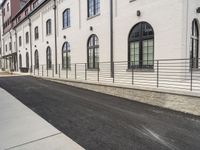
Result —
<instances>
[{"instance_id":1,"label":"ground-floor arched window just right of the second downspout from the right","mask_svg":"<svg viewBox=\"0 0 200 150\"><path fill-rule=\"evenodd\" d=\"M62 68L70 68L71 56L70 56L70 45L68 42L65 42L62 47Z\"/></svg>"}]
</instances>

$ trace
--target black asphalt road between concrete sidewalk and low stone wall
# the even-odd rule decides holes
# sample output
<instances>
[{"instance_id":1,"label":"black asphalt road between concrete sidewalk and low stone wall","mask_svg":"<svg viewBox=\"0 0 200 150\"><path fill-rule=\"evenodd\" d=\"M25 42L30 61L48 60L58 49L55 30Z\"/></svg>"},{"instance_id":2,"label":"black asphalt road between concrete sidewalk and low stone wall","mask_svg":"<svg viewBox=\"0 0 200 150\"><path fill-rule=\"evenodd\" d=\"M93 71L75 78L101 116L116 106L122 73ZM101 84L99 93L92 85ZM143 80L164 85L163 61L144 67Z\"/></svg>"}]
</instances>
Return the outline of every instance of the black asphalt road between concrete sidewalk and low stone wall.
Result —
<instances>
[{"instance_id":1,"label":"black asphalt road between concrete sidewalk and low stone wall","mask_svg":"<svg viewBox=\"0 0 200 150\"><path fill-rule=\"evenodd\" d=\"M200 150L200 119L33 77L0 87L87 150Z\"/></svg>"}]
</instances>

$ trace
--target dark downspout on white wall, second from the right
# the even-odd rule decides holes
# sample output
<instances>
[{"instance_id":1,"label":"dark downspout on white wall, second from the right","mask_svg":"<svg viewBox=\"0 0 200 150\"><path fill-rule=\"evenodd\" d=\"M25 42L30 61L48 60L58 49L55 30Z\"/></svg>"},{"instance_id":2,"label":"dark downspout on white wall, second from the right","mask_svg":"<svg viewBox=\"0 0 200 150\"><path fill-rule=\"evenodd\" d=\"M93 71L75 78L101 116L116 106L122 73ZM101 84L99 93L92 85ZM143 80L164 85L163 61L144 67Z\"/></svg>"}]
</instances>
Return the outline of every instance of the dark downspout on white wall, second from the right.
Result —
<instances>
[{"instance_id":1,"label":"dark downspout on white wall, second from the right","mask_svg":"<svg viewBox=\"0 0 200 150\"><path fill-rule=\"evenodd\" d=\"M58 73L57 67L57 16L56 16L56 0L54 0L54 31L55 31L55 73Z\"/></svg>"}]
</instances>

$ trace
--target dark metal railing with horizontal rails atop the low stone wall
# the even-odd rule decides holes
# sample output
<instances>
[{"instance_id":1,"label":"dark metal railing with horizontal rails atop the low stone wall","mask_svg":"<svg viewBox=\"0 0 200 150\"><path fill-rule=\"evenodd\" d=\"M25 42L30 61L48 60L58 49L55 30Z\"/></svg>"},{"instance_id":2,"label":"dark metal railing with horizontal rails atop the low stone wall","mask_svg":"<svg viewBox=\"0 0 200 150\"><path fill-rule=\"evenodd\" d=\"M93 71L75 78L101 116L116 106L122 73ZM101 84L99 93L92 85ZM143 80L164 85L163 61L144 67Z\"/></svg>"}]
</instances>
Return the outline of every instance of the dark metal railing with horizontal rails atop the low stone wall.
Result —
<instances>
[{"instance_id":1,"label":"dark metal railing with horizontal rails atop the low stone wall","mask_svg":"<svg viewBox=\"0 0 200 150\"><path fill-rule=\"evenodd\" d=\"M100 62L96 68L87 63L34 66L33 75L150 88L200 91L200 60L168 59L152 62ZM57 68L57 72L56 69Z\"/></svg>"}]
</instances>

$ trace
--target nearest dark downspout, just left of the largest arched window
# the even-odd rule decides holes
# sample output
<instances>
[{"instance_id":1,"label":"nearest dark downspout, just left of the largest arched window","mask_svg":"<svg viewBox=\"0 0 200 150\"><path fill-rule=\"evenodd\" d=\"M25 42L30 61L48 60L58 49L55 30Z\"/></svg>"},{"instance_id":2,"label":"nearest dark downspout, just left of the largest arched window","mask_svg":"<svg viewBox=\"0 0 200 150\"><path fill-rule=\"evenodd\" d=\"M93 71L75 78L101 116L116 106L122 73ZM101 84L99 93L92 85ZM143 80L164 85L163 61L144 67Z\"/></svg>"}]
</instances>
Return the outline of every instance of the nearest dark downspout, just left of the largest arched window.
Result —
<instances>
[{"instance_id":1,"label":"nearest dark downspout, just left of the largest arched window","mask_svg":"<svg viewBox=\"0 0 200 150\"><path fill-rule=\"evenodd\" d=\"M114 78L114 61L113 61L113 0L110 0L110 67L111 77Z\"/></svg>"}]
</instances>

